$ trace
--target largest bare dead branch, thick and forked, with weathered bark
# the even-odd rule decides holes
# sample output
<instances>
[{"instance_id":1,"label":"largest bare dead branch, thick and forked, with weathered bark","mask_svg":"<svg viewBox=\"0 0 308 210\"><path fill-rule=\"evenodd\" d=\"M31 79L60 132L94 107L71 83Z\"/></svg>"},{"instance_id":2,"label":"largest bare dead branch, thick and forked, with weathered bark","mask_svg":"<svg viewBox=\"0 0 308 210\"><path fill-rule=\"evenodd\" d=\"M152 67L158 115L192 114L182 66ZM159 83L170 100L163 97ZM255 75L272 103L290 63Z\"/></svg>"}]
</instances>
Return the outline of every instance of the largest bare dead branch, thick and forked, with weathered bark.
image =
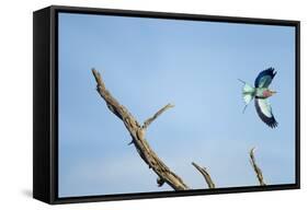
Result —
<instances>
[{"instance_id":1,"label":"largest bare dead branch, thick and forked, with weathered bark","mask_svg":"<svg viewBox=\"0 0 308 210\"><path fill-rule=\"evenodd\" d=\"M92 73L96 80L96 91L105 101L109 109L124 122L140 158L158 175L158 185L162 186L163 183L167 183L174 190L189 189L187 185L158 158L146 140L146 128L172 105L168 104L155 114L153 117L146 120L144 126L140 126L127 108L121 105L106 90L101 74L95 69L92 69Z\"/></svg>"}]
</instances>

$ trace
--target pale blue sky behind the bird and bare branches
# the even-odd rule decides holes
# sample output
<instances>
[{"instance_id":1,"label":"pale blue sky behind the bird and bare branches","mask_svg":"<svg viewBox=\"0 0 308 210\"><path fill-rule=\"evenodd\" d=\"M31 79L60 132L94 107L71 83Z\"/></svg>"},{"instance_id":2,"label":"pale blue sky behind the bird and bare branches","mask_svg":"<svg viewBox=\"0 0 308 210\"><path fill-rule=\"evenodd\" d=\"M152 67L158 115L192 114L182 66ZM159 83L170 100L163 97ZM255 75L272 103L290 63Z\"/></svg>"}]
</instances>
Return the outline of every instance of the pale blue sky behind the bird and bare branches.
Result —
<instances>
[{"instance_id":1,"label":"pale blue sky behind the bird and bare branches","mask_svg":"<svg viewBox=\"0 0 308 210\"><path fill-rule=\"evenodd\" d=\"M295 28L59 14L59 196L172 190L137 154L123 122L95 91L91 68L142 122L175 105L148 129L157 154L192 188L191 165L206 166L217 187L258 185L249 150L267 184L295 183ZM242 79L274 67L270 98L278 127L269 128ZM174 147L175 145L175 147Z\"/></svg>"}]
</instances>

